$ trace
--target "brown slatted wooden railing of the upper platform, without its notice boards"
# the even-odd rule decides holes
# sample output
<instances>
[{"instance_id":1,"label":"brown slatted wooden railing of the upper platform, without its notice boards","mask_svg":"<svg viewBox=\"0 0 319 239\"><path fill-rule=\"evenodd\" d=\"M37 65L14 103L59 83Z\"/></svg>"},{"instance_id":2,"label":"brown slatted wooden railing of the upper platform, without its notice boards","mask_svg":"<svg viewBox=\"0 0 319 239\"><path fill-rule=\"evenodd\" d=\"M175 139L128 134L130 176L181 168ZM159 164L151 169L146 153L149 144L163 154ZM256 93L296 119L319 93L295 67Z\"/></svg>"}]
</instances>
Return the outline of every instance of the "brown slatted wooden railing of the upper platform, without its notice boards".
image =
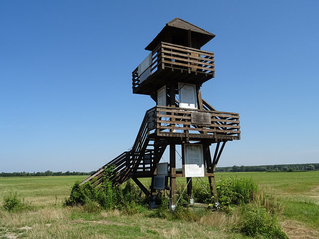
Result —
<instances>
[{"instance_id":1,"label":"brown slatted wooden railing of the upper platform, without its notice boards","mask_svg":"<svg viewBox=\"0 0 319 239\"><path fill-rule=\"evenodd\" d=\"M161 42L152 52L149 76L167 68L181 69L185 73L205 73L214 77L214 53ZM133 91L141 84L140 73L138 67L132 72Z\"/></svg>"}]
</instances>

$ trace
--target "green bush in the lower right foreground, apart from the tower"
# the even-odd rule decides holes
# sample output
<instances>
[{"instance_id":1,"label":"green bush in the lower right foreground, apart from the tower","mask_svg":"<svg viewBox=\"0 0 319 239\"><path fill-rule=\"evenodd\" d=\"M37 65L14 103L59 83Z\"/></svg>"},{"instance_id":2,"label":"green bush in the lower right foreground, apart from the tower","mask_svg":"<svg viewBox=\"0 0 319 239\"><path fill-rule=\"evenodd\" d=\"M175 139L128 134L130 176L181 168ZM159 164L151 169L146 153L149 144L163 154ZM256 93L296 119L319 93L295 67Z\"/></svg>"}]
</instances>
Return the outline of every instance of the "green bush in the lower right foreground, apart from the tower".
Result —
<instances>
[{"instance_id":1,"label":"green bush in the lower right foreground, apart from the tower","mask_svg":"<svg viewBox=\"0 0 319 239\"><path fill-rule=\"evenodd\" d=\"M250 237L282 238L287 235L282 231L275 216L271 216L264 207L243 205L240 210L240 222L235 226L235 231Z\"/></svg>"}]
</instances>

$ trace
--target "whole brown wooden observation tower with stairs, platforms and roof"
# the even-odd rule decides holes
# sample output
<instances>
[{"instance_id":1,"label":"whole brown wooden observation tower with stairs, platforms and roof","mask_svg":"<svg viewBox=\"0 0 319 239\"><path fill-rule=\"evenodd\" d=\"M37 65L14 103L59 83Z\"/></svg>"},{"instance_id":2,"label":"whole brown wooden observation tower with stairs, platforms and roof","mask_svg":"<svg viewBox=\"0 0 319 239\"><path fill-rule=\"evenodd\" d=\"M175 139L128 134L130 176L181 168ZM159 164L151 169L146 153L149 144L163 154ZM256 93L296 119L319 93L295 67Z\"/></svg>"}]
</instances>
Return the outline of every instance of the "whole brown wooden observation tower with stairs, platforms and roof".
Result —
<instances>
[{"instance_id":1,"label":"whole brown wooden observation tower with stairs, platforms and roof","mask_svg":"<svg viewBox=\"0 0 319 239\"><path fill-rule=\"evenodd\" d=\"M202 98L202 84L214 77L214 53L201 47L214 34L182 19L166 23L145 48L150 54L132 72L133 94L149 95L156 106L147 110L130 151L101 167L82 183L101 182L105 167L113 165L114 184L131 178L155 200L169 189L174 204L176 178L208 177L215 193L214 169L227 141L240 140L239 114L217 111ZM176 146L181 146L182 171L176 171ZM211 155L210 146L214 145ZM169 146L169 163L159 163ZM139 178L152 178L150 189ZM94 179L94 180L93 180ZM169 185L168 185L169 179Z\"/></svg>"}]
</instances>

